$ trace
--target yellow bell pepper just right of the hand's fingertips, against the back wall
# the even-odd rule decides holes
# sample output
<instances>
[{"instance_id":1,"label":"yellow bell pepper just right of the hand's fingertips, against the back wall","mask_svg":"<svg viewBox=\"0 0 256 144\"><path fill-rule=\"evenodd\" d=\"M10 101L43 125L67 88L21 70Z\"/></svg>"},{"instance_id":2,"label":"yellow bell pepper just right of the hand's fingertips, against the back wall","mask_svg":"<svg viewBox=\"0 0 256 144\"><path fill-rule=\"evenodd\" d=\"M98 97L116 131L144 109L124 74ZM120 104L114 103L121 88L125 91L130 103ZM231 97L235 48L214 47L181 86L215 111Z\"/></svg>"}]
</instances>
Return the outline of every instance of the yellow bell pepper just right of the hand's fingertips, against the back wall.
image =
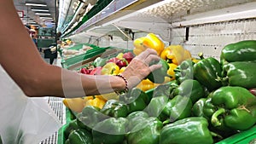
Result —
<instances>
[{"instance_id":1,"label":"yellow bell pepper just right of the hand's fingertips, against the back wall","mask_svg":"<svg viewBox=\"0 0 256 144\"><path fill-rule=\"evenodd\" d=\"M191 54L189 50L183 49L181 45L170 45L162 51L160 58L179 65L183 60L191 59Z\"/></svg>"}]
</instances>

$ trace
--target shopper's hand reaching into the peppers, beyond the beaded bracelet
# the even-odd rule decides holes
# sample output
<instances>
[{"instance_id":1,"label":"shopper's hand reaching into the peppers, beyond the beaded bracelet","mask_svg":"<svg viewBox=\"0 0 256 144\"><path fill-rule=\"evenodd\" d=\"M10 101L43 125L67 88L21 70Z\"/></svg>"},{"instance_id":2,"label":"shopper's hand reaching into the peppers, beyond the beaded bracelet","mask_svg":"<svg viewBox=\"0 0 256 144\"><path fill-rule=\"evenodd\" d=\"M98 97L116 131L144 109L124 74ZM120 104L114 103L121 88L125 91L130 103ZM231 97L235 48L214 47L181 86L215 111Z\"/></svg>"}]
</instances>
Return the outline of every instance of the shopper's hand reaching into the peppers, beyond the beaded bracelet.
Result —
<instances>
[{"instance_id":1,"label":"shopper's hand reaching into the peppers, beyond the beaded bracelet","mask_svg":"<svg viewBox=\"0 0 256 144\"><path fill-rule=\"evenodd\" d=\"M146 49L143 53L132 59L130 64L125 68L125 72L122 73L128 81L128 88L131 89L137 86L150 72L160 68L160 65L149 66L152 61L159 60L160 57L154 49Z\"/></svg>"}]
</instances>

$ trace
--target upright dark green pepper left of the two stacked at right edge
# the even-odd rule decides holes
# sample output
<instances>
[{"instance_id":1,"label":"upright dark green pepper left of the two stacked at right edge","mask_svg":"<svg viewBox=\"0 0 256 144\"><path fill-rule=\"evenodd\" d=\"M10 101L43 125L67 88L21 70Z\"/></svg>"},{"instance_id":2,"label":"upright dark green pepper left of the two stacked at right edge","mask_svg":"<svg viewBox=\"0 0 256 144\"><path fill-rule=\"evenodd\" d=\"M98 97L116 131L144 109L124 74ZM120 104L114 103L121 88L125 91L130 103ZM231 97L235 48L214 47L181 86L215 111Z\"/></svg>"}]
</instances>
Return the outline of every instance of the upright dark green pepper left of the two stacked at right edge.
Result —
<instances>
[{"instance_id":1,"label":"upright dark green pepper left of the two stacked at right edge","mask_svg":"<svg viewBox=\"0 0 256 144\"><path fill-rule=\"evenodd\" d=\"M194 65L195 79L209 91L222 86L222 83L217 80L221 76L221 72L220 63L212 57L200 60Z\"/></svg>"}]
</instances>

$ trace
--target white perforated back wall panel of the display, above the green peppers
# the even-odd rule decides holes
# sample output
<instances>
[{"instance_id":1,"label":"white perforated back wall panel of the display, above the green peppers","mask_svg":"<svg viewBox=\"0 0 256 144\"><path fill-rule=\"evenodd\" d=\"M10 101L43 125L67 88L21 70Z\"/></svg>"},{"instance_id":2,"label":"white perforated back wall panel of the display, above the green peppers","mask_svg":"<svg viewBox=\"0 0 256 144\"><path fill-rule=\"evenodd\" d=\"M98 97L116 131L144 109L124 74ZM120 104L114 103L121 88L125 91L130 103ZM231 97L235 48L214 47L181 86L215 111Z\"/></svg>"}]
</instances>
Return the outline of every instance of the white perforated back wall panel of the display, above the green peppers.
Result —
<instances>
[{"instance_id":1,"label":"white perforated back wall panel of the display, above the green peppers","mask_svg":"<svg viewBox=\"0 0 256 144\"><path fill-rule=\"evenodd\" d=\"M189 40L184 42L185 27L172 29L172 44L182 44L193 56L203 52L205 57L219 60L221 49L226 44L256 39L256 20L233 20L199 26L189 26Z\"/></svg>"}]
</instances>

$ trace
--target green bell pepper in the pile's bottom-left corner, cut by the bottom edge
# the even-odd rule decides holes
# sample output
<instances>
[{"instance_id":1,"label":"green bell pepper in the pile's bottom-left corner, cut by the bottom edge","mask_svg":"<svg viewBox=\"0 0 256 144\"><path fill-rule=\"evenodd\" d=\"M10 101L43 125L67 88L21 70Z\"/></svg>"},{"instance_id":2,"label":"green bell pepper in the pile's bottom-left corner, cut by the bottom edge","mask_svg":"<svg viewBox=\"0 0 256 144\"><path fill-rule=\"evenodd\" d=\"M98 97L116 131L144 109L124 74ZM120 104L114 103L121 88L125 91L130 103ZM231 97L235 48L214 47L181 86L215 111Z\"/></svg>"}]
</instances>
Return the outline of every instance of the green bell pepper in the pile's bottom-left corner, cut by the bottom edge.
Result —
<instances>
[{"instance_id":1,"label":"green bell pepper in the pile's bottom-left corner, cut by the bottom edge","mask_svg":"<svg viewBox=\"0 0 256 144\"><path fill-rule=\"evenodd\" d=\"M84 129L73 130L68 135L68 140L70 144L93 144L92 135L90 132Z\"/></svg>"}]
</instances>

